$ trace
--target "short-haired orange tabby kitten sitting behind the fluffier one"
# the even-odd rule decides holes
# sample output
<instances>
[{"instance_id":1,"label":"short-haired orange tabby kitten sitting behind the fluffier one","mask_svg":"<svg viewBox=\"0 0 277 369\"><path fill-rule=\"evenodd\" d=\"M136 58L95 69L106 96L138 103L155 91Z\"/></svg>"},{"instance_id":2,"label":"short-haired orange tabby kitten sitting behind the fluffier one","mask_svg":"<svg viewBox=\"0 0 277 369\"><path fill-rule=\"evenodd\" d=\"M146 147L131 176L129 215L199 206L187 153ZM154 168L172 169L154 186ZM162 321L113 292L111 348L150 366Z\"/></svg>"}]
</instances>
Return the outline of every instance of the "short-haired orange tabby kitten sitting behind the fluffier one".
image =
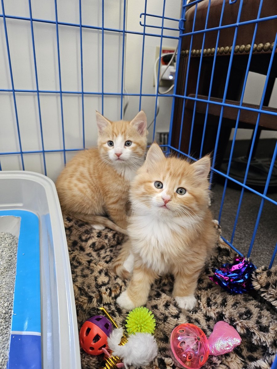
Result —
<instances>
[{"instance_id":1,"label":"short-haired orange tabby kitten sitting behind the fluffier one","mask_svg":"<svg viewBox=\"0 0 277 369\"><path fill-rule=\"evenodd\" d=\"M146 115L140 111L130 122L112 122L96 112L96 122L98 148L81 151L66 164L56 182L59 201L65 213L96 229L126 233L129 183L146 150Z\"/></svg>"}]
</instances>

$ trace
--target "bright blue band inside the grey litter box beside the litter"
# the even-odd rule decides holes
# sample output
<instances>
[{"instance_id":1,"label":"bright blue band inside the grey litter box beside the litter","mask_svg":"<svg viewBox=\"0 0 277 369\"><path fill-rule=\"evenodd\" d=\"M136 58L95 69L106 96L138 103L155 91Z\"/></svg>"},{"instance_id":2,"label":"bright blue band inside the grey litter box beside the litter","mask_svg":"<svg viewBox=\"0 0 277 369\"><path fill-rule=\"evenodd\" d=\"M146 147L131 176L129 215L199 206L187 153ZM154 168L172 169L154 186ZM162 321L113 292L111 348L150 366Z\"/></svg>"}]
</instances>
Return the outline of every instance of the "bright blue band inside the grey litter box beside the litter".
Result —
<instances>
[{"instance_id":1,"label":"bright blue band inside the grey litter box beside the litter","mask_svg":"<svg viewBox=\"0 0 277 369\"><path fill-rule=\"evenodd\" d=\"M5 215L21 218L7 369L41 369L39 220L24 210L0 211Z\"/></svg>"}]
</instances>

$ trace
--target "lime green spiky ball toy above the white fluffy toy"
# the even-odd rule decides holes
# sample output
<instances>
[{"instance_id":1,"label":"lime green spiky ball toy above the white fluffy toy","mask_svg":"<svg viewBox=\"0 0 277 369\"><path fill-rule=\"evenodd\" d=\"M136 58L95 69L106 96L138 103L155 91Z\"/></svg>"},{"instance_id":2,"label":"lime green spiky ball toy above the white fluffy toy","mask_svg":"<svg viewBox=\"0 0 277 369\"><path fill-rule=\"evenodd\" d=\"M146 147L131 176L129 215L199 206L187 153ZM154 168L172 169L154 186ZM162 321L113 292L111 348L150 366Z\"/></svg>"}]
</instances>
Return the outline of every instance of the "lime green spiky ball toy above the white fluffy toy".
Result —
<instances>
[{"instance_id":1,"label":"lime green spiky ball toy above the white fluffy toy","mask_svg":"<svg viewBox=\"0 0 277 369\"><path fill-rule=\"evenodd\" d=\"M147 307L136 307L127 315L126 330L129 334L136 332L154 333L156 321L152 311Z\"/></svg>"}]
</instances>

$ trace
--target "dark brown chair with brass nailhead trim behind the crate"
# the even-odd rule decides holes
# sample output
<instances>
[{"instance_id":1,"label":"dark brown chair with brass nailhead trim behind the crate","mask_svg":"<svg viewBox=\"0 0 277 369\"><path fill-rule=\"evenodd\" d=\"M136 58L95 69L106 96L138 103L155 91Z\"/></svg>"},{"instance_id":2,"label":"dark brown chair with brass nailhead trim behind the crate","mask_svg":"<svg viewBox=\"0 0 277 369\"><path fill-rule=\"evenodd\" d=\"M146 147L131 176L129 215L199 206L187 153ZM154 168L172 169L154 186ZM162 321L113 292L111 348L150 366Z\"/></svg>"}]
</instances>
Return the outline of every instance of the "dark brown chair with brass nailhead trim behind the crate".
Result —
<instances>
[{"instance_id":1,"label":"dark brown chair with brass nailhead trim behind the crate","mask_svg":"<svg viewBox=\"0 0 277 369\"><path fill-rule=\"evenodd\" d=\"M188 35L182 37L181 44L181 56L179 62L179 71L177 76L177 90L178 95L184 95L185 90L185 80L188 73L187 89L185 96L195 97L196 94L196 81L198 78L198 70L200 63L200 56L202 52L202 64L200 69L200 79L199 88L197 92L197 97L207 100L209 94L209 87L211 81L211 73L213 66L214 55L216 54L216 63L213 76L213 83L211 89L211 99L210 101L222 102L223 93L225 89L225 82L229 67L230 54L232 50L233 38L235 35L235 30L237 28L237 36L235 41L235 49L233 54L232 68L230 69L230 79L226 94L226 103L232 105L238 105L240 97L242 95L242 87L246 72L246 66L249 59L249 52L251 49L252 38L254 34L254 28L256 23L249 23L244 25L239 25L236 27L237 16L240 7L240 1L236 3L229 4L229 0L211 0L211 6L209 9L209 17L207 23L207 29L213 27L219 27L220 14L222 12L223 1L225 1L225 8L222 18L222 25L233 24L232 27L223 28L219 33L219 42L216 49L216 39L218 36L218 30L205 32L205 43L202 48L203 35L204 33L194 34L193 36ZM196 18L195 18L195 28L194 31L204 30L206 15L208 11L208 0L203 0L197 4ZM257 14L260 6L259 0L246 0L243 1L242 11L240 15L239 22L245 22L249 20L257 19ZM195 4L187 8L185 13L184 27L185 34L189 34L193 31L193 21L195 14ZM276 0L264 0L261 7L260 18L269 17L277 14L277 1ZM257 25L257 33L255 38L255 44L253 48L252 59L250 63L250 71L260 73L263 75L267 74L269 61L271 53L274 46L274 39L277 32L277 19L260 21ZM192 46L190 49L192 37ZM203 51L202 51L203 49ZM275 50L276 53L276 50ZM190 62L189 62L190 54ZM189 63L189 68L188 68ZM270 110L277 113L276 108L269 108L269 100L275 79L277 77L277 57L274 55L273 65L270 71L269 81L267 84L266 94L263 102L263 110ZM184 106L184 120L183 129L181 134L181 146L180 150L182 152L188 153L189 151L189 139L191 135L192 127L192 115L195 107L195 119L194 119L194 129L192 132L192 142L190 153L192 156L199 157L200 147L202 141L203 124L206 113L206 102L195 103L194 100L175 98L174 105L174 120L172 127L172 139L171 145L178 148L179 137L180 137L180 127L182 120L182 111ZM259 106L243 104L243 106L249 106L253 108L259 108ZM216 134L218 131L219 115L221 111L221 106L216 104L209 104L208 108L208 119L207 127L205 131L204 147L202 155L212 152L215 148ZM235 127L237 119L238 109L234 107L224 107L222 125L220 129L218 149L216 152L216 168L220 168L225 153L226 146L229 141L230 132L233 127ZM251 128L253 130L254 125L257 121L257 113L253 111L241 110L239 128ZM254 185L255 183L251 180L251 176L257 177L257 171L264 172L261 174L260 184L264 185L264 177L268 172L267 168L261 168L260 163L254 159L255 150L257 142L259 139L259 134L261 129L277 130L277 117L276 115L261 114L259 129L257 131L256 141L254 145L254 151L252 155L253 168L250 168L248 184ZM249 154L249 152L248 152ZM247 154L246 154L247 158ZM247 161L244 160L244 161ZM256 165L257 164L257 165ZM245 168L244 163L242 163L242 168ZM223 169L222 169L223 170ZM251 170L254 170L251 173ZM245 172L245 171L244 171ZM274 175L274 173L273 173ZM277 175L277 173L276 173ZM235 174L233 175L235 176ZM238 175L239 180L243 180L244 173ZM249 182L250 181L250 182ZM252 182L253 183L252 183ZM259 180L258 180L259 182ZM277 184L277 182L276 182Z\"/></svg>"}]
</instances>

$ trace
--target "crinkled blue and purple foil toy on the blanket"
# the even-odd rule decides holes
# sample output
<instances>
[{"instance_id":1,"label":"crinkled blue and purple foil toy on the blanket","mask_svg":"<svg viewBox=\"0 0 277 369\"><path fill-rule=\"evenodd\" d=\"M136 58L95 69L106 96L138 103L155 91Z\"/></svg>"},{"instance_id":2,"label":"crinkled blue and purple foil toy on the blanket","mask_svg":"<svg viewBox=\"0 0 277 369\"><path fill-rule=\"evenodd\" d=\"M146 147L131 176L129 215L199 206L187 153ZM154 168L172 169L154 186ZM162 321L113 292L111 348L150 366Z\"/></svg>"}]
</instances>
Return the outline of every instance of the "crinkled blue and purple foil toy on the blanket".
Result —
<instances>
[{"instance_id":1,"label":"crinkled blue and purple foil toy on the blanket","mask_svg":"<svg viewBox=\"0 0 277 369\"><path fill-rule=\"evenodd\" d=\"M226 263L219 269L212 268L214 276L209 276L209 279L232 294L244 293L253 289L251 275L255 269L252 262L243 256L236 256L233 264Z\"/></svg>"}]
</instances>

